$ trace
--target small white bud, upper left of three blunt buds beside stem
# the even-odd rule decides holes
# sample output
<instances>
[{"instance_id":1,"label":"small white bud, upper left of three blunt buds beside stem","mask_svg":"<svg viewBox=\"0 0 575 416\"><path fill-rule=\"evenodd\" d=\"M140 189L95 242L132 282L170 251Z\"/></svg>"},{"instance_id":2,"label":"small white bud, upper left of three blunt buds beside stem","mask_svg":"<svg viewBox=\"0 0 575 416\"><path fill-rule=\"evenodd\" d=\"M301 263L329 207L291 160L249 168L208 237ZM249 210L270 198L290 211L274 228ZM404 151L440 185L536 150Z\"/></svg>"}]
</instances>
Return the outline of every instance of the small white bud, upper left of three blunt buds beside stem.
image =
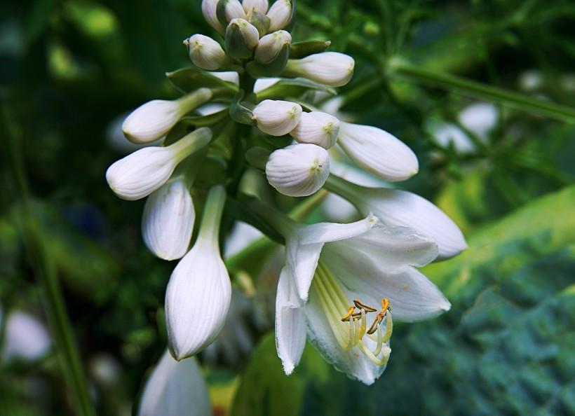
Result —
<instances>
[{"instance_id":1,"label":"small white bud, upper left of three blunt buds beside stem","mask_svg":"<svg viewBox=\"0 0 575 416\"><path fill-rule=\"evenodd\" d=\"M257 128L270 136L283 136L295 129L302 117L302 106L295 102L266 99L253 111Z\"/></svg>"}]
</instances>

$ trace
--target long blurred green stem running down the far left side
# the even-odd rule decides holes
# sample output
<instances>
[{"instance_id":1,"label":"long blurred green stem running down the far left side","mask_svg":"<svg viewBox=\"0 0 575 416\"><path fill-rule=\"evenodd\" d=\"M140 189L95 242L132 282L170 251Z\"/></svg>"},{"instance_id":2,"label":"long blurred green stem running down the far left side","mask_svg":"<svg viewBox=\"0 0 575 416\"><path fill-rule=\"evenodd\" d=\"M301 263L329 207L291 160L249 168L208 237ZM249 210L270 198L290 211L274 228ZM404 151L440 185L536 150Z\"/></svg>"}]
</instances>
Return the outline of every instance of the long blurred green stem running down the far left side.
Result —
<instances>
[{"instance_id":1,"label":"long blurred green stem running down the far left side","mask_svg":"<svg viewBox=\"0 0 575 416\"><path fill-rule=\"evenodd\" d=\"M8 164L11 167L13 178L18 187L19 199L22 203L23 221L19 221L20 232L25 240L25 249L29 264L35 269L35 275L43 292L43 303L50 321L52 335L59 352L69 396L72 399L76 415L95 416L93 404L88 394L86 375L81 365L81 359L74 335L72 324L66 311L64 296L57 270L48 255L45 237L41 233L39 220L34 214L29 198L29 186L25 175L24 162L20 151L20 132L13 125L13 117L3 106L0 117L1 124L6 126L8 132Z\"/></svg>"}]
</instances>

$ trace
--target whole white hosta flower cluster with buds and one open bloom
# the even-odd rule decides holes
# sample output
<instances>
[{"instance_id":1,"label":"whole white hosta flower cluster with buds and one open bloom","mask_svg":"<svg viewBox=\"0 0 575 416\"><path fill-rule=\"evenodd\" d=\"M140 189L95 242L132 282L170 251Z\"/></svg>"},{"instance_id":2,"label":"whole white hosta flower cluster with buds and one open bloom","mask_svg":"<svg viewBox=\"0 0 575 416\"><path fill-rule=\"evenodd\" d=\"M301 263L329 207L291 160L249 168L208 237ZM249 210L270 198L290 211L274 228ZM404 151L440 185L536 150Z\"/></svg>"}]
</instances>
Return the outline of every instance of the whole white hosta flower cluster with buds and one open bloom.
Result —
<instances>
[{"instance_id":1,"label":"whole white hosta flower cluster with buds and one open bloom","mask_svg":"<svg viewBox=\"0 0 575 416\"><path fill-rule=\"evenodd\" d=\"M408 179L419 166L392 134L345 123L297 98L335 93L351 80L355 62L327 52L329 42L292 43L290 0L271 6L267 0L203 0L202 11L221 38L194 34L184 41L194 67L168 77L186 94L148 102L123 123L130 141L165 137L163 146L141 148L107 171L119 197L148 197L142 220L147 247L165 260L181 258L165 294L170 353L178 361L197 354L224 325L231 283L219 233L226 198L240 197L247 159L283 195L306 197L325 187L365 217L304 226L263 202L245 203L257 219L253 225L261 221L262 230L285 240L276 297L285 373L297 366L309 339L336 368L370 384L391 353L392 316L417 321L449 309L417 267L459 254L464 237L422 197L330 174L334 147L384 181ZM203 172L208 180L196 181ZM189 249L194 207L203 195L202 221Z\"/></svg>"}]
</instances>

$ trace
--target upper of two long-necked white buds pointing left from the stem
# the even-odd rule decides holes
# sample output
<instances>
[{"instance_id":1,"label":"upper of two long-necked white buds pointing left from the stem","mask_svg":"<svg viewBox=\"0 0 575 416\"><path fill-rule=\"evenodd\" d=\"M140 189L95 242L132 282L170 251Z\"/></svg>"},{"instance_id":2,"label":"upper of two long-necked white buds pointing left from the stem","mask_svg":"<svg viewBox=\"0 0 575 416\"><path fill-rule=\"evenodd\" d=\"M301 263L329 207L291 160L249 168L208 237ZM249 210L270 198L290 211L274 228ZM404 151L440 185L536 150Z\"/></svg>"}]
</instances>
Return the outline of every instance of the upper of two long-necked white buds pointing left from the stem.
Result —
<instances>
[{"instance_id":1,"label":"upper of two long-necked white buds pointing left from the stem","mask_svg":"<svg viewBox=\"0 0 575 416\"><path fill-rule=\"evenodd\" d=\"M132 111L122 131L133 143L149 143L167 134L182 116L211 98L211 90L200 88L173 101L154 99Z\"/></svg>"}]
</instances>

